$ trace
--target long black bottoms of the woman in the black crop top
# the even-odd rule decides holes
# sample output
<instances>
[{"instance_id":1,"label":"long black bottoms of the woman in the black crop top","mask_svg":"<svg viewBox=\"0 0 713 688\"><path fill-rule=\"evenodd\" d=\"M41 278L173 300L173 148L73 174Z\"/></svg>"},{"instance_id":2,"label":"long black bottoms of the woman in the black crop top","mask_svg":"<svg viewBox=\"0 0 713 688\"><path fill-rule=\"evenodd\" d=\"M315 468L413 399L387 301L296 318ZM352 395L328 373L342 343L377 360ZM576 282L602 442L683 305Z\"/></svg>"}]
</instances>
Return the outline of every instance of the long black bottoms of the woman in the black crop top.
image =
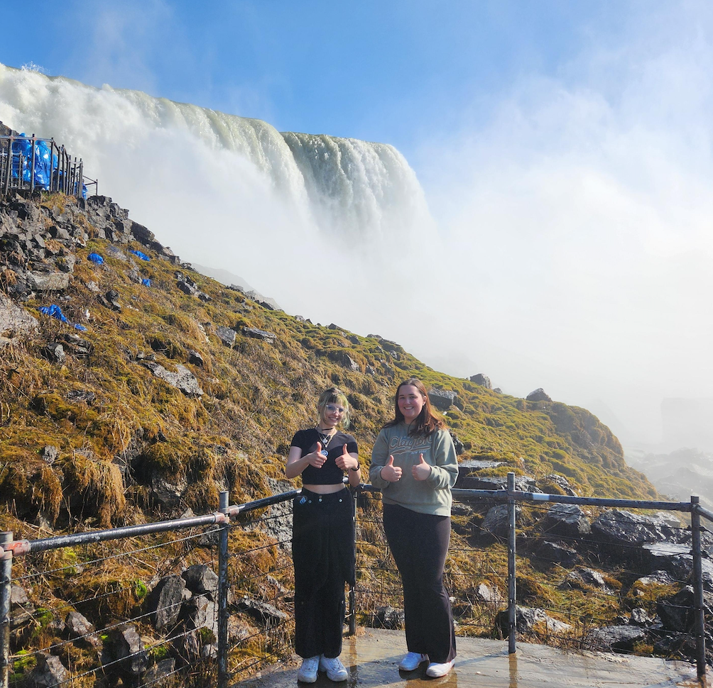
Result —
<instances>
[{"instance_id":1,"label":"long black bottoms of the woman in the black crop top","mask_svg":"<svg viewBox=\"0 0 713 688\"><path fill-rule=\"evenodd\" d=\"M344 583L354 584L354 507L348 489L302 489L292 502L294 649L300 657L339 657Z\"/></svg>"}]
</instances>

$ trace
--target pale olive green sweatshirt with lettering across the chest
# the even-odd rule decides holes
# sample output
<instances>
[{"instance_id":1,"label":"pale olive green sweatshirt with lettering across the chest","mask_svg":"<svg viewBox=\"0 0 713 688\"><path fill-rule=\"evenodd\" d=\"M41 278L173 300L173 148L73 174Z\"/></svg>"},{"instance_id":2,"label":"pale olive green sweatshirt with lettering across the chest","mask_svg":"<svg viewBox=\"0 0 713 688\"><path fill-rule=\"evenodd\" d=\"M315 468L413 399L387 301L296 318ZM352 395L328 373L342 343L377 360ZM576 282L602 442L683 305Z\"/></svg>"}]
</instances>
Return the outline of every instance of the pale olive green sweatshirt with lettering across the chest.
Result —
<instances>
[{"instance_id":1,"label":"pale olive green sweatshirt with lettering across the chest","mask_svg":"<svg viewBox=\"0 0 713 688\"><path fill-rule=\"evenodd\" d=\"M416 480L411 467L418 464L420 454L431 466L426 480ZM401 478L391 483L379 475L389 456L394 466L401 468ZM381 489L384 504L398 504L419 514L451 515L451 487L458 478L456 447L447 429L436 430L430 437L411 437L406 423L386 427L379 432L371 452L369 480Z\"/></svg>"}]
</instances>

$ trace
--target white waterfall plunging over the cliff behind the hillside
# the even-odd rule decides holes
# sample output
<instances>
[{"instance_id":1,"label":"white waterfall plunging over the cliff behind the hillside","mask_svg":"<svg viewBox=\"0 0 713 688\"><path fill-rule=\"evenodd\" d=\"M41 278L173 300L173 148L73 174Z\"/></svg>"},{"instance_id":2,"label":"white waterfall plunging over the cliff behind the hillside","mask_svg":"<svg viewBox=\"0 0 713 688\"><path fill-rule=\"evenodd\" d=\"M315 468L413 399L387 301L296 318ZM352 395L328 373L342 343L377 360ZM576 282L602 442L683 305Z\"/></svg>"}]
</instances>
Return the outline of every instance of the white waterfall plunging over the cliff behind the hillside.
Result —
<instances>
[{"instance_id":1,"label":"white waterfall plunging over the cliff behind the hillside","mask_svg":"<svg viewBox=\"0 0 713 688\"><path fill-rule=\"evenodd\" d=\"M397 336L373 303L399 298L409 246L435 229L394 147L3 65L0 121L81 156L99 192L183 260L238 274L288 312Z\"/></svg>"}]
</instances>

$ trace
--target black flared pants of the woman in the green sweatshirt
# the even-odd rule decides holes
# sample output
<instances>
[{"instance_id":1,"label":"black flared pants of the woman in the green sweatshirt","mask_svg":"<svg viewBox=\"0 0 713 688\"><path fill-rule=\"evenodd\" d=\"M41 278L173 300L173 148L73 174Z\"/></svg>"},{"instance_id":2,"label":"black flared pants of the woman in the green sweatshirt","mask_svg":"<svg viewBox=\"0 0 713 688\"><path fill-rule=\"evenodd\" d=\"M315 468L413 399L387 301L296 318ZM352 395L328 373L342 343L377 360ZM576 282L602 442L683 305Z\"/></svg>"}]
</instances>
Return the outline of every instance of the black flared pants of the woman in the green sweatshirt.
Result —
<instances>
[{"instance_id":1,"label":"black flared pants of the woman in the green sweatshirt","mask_svg":"<svg viewBox=\"0 0 713 688\"><path fill-rule=\"evenodd\" d=\"M456 657L451 600L443 585L450 516L384 504L384 532L404 586L406 647L445 664Z\"/></svg>"}]
</instances>

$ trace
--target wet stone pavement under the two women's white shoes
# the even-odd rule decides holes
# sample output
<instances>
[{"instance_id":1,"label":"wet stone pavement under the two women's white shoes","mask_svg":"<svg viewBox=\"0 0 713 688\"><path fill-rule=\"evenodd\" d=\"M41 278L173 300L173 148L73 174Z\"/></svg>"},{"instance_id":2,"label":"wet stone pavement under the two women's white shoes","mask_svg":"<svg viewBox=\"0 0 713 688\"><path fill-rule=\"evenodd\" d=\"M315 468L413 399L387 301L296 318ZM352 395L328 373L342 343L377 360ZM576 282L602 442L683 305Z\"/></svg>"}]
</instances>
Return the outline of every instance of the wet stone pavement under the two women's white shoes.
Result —
<instances>
[{"instance_id":1,"label":"wet stone pavement under the two women's white shoes","mask_svg":"<svg viewBox=\"0 0 713 688\"><path fill-rule=\"evenodd\" d=\"M405 652L403 632L359 629L345 637L342 662L347 681L334 684L320 673L314 688L665 688L699 686L696 667L655 657L631 657L605 652L578 654L545 645L518 644L508 655L507 641L458 638L456 666L440 679L426 677L427 664L400 672ZM235 684L240 688L294 688L299 657L275 664L269 671ZM710 681L710 677L708 679ZM309 684L299 684L304 688Z\"/></svg>"}]
</instances>

